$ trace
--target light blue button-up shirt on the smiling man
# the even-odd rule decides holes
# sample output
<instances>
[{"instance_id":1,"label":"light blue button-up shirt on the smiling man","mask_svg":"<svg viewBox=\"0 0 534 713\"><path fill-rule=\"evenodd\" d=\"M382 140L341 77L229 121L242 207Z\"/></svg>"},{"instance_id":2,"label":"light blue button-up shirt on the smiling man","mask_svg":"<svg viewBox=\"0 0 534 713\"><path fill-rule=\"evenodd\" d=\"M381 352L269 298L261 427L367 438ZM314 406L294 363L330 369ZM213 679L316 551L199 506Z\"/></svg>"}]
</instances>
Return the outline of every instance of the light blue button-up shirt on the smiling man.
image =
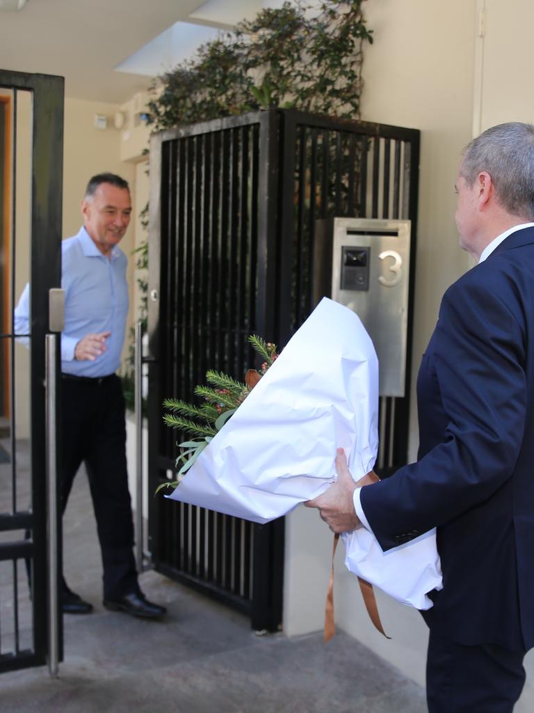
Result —
<instances>
[{"instance_id":1,"label":"light blue button-up shirt on the smiling man","mask_svg":"<svg viewBox=\"0 0 534 713\"><path fill-rule=\"evenodd\" d=\"M128 312L125 254L116 245L105 257L85 227L61 244L61 287L65 290L65 329L61 333L61 371L75 376L108 376L120 366ZM15 309L15 334L29 333L30 290L26 285ZM111 332L107 349L95 361L74 359L87 334Z\"/></svg>"}]
</instances>

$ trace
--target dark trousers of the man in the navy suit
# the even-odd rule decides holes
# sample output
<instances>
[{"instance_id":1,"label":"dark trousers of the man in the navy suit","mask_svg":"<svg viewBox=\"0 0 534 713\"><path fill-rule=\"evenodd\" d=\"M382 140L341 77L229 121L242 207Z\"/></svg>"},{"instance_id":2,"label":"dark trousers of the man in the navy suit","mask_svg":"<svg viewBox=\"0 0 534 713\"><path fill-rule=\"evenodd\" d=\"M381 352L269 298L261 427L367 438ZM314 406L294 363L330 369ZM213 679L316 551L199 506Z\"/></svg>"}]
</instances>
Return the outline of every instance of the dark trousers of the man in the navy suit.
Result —
<instances>
[{"instance_id":1,"label":"dark trousers of the man in the navy suit","mask_svg":"<svg viewBox=\"0 0 534 713\"><path fill-rule=\"evenodd\" d=\"M491 644L456 644L430 630L429 713L511 713L525 683L524 657Z\"/></svg>"}]
</instances>

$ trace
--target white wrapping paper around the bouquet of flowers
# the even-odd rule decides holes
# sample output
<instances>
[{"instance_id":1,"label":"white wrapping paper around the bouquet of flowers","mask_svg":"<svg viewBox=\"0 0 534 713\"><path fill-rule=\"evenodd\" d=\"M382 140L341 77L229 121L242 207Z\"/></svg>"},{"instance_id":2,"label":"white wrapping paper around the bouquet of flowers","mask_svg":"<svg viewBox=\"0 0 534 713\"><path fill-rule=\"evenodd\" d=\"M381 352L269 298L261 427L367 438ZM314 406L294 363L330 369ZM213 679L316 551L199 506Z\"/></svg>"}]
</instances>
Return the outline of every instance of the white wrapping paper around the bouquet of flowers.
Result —
<instances>
[{"instance_id":1,"label":"white wrapping paper around the bouquet of flowers","mask_svg":"<svg viewBox=\"0 0 534 713\"><path fill-rule=\"evenodd\" d=\"M324 298L169 498L256 523L286 515L335 481L337 447L355 481L372 470L377 410L371 339L354 312ZM388 553L367 530L343 539L351 572L431 606L425 594L441 586L434 533Z\"/></svg>"}]
</instances>

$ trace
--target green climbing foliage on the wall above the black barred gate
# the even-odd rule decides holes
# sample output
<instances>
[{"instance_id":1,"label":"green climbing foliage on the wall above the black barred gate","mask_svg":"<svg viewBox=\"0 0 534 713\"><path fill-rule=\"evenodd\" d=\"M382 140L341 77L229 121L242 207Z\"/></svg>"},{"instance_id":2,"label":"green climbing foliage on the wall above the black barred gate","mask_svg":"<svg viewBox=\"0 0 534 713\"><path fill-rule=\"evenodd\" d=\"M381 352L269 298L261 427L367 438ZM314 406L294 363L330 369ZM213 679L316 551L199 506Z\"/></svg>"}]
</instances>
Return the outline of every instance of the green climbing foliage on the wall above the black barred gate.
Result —
<instances>
[{"instance_id":1,"label":"green climbing foliage on the wall above the black barred gate","mask_svg":"<svg viewBox=\"0 0 534 713\"><path fill-rule=\"evenodd\" d=\"M356 119L362 47L372 43L365 0L303 0L263 9L201 46L152 87L156 130L267 108Z\"/></svg>"}]
</instances>

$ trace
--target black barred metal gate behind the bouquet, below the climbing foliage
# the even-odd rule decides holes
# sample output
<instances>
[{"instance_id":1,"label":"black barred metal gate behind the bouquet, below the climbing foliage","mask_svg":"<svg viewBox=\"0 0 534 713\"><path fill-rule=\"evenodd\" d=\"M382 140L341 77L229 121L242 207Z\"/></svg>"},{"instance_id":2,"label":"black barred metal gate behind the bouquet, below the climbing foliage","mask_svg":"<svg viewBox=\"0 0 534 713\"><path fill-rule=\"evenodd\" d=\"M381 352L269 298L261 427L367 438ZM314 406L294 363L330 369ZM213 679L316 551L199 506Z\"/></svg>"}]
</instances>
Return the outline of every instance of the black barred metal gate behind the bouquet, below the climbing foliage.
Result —
<instances>
[{"instance_id":1,"label":"black barred metal gate behind the bouquet, below the climbing foliage","mask_svg":"<svg viewBox=\"0 0 534 713\"><path fill-rule=\"evenodd\" d=\"M172 477L177 456L162 399L194 399L207 369L243 379L253 361L248 334L286 344L315 307L315 220L408 217L414 240L418 158L416 130L296 111L152 137L151 492ZM386 466L407 455L408 397L396 401L382 404ZM149 512L157 570L250 613L256 629L281 623L283 528L283 518L253 525L163 498Z\"/></svg>"}]
</instances>

